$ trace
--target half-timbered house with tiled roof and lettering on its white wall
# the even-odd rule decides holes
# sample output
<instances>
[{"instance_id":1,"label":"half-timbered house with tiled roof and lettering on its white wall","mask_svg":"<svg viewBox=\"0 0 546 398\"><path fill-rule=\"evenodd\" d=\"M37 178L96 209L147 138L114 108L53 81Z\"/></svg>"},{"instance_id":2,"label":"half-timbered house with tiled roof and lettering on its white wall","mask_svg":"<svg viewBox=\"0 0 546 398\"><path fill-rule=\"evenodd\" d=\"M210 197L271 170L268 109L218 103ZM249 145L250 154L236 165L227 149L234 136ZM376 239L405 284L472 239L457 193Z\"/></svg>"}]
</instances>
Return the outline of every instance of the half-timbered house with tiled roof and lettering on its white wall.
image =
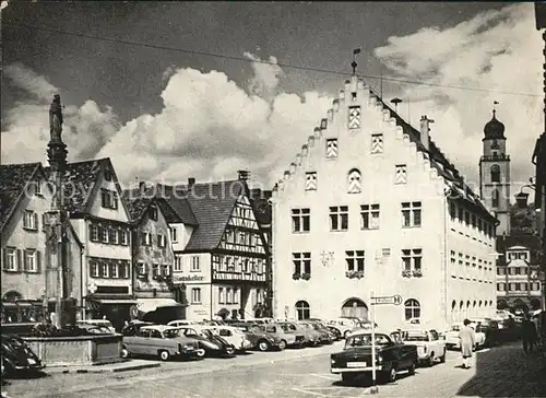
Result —
<instances>
[{"instance_id":1,"label":"half-timbered house with tiled roof and lettering on its white wall","mask_svg":"<svg viewBox=\"0 0 546 398\"><path fill-rule=\"evenodd\" d=\"M161 186L170 227L173 283L185 289L187 319L254 317L268 286L269 250L246 180Z\"/></svg>"}]
</instances>

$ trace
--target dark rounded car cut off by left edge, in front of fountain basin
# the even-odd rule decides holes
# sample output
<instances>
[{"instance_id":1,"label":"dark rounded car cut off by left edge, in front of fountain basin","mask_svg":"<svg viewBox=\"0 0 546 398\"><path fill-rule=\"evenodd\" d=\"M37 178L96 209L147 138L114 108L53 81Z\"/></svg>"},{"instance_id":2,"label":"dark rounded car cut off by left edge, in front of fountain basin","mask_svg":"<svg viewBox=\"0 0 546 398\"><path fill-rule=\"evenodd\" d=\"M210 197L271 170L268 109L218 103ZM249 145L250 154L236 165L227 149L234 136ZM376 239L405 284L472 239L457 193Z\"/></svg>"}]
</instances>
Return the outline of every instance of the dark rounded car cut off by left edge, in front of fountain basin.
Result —
<instances>
[{"instance_id":1,"label":"dark rounded car cut off by left edge, in front of fountain basin","mask_svg":"<svg viewBox=\"0 0 546 398\"><path fill-rule=\"evenodd\" d=\"M2 365L5 374L37 372L46 367L26 342L11 335L2 335Z\"/></svg>"}]
</instances>

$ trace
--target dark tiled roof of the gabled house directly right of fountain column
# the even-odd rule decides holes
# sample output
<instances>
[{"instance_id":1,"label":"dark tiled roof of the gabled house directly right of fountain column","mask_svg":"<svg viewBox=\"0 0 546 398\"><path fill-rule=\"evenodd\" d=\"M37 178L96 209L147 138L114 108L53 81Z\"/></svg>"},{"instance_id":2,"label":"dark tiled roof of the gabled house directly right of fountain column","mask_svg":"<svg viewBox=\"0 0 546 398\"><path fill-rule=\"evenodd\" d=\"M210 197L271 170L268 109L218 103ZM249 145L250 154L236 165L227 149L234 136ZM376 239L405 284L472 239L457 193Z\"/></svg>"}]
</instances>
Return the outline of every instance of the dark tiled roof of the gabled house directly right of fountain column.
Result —
<instances>
[{"instance_id":1,"label":"dark tiled roof of the gabled house directly right of fountain column","mask_svg":"<svg viewBox=\"0 0 546 398\"><path fill-rule=\"evenodd\" d=\"M93 204L92 199L98 190L99 178L106 168L110 171L118 192L121 194L122 190L109 157L67 164L63 176L67 189L64 194L64 206L70 213L88 214L91 206ZM45 171L49 176L51 167L46 167ZM119 200L129 216L127 203L122 195L120 195Z\"/></svg>"}]
</instances>

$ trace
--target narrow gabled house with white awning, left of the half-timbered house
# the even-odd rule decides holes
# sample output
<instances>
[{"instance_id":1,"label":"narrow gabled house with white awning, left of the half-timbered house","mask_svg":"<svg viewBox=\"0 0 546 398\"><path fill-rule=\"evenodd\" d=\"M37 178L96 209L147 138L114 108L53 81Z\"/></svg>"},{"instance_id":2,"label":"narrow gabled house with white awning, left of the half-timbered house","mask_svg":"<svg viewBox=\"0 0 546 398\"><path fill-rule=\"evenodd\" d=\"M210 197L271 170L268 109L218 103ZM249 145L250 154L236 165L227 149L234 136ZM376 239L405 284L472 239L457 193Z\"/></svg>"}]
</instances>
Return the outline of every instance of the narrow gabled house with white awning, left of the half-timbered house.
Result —
<instances>
[{"instance_id":1,"label":"narrow gabled house with white awning, left of the half-timbered house","mask_svg":"<svg viewBox=\"0 0 546 398\"><path fill-rule=\"evenodd\" d=\"M173 284L175 257L161 204L165 199L141 194L141 189L123 192L132 223L132 283L138 303L132 316L159 323L183 319L186 306L175 300L180 296Z\"/></svg>"}]
</instances>

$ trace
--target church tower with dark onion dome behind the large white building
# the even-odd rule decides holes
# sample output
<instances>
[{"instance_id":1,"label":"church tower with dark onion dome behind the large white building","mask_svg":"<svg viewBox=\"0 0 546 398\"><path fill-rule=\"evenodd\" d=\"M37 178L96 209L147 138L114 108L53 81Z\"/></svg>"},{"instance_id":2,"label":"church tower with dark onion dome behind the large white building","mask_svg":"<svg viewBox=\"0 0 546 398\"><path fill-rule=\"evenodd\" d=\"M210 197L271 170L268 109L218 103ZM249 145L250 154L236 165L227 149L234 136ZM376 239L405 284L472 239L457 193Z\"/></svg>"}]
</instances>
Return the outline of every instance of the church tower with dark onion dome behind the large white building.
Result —
<instances>
[{"instance_id":1,"label":"church tower with dark onion dome behind the large white building","mask_svg":"<svg viewBox=\"0 0 546 398\"><path fill-rule=\"evenodd\" d=\"M479 195L499 225L497 236L510 234L510 156L507 154L505 125L496 117L484 127L483 155L479 159Z\"/></svg>"}]
</instances>

